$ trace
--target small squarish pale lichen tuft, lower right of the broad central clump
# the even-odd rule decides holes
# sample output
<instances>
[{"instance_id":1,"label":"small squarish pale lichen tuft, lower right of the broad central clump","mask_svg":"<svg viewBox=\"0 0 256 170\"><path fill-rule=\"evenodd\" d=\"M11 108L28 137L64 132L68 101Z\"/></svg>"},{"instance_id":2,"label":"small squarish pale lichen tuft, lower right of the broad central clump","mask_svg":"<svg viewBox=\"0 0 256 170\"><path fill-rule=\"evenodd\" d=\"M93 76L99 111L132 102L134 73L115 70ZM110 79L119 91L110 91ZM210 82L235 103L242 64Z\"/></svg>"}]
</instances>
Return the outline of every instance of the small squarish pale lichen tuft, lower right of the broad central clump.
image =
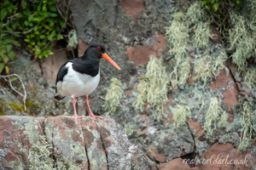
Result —
<instances>
[{"instance_id":1,"label":"small squarish pale lichen tuft, lower right of the broad central clump","mask_svg":"<svg viewBox=\"0 0 256 170\"><path fill-rule=\"evenodd\" d=\"M175 127L183 127L190 118L191 111L188 105L176 105L173 111L173 121Z\"/></svg>"}]
</instances>

